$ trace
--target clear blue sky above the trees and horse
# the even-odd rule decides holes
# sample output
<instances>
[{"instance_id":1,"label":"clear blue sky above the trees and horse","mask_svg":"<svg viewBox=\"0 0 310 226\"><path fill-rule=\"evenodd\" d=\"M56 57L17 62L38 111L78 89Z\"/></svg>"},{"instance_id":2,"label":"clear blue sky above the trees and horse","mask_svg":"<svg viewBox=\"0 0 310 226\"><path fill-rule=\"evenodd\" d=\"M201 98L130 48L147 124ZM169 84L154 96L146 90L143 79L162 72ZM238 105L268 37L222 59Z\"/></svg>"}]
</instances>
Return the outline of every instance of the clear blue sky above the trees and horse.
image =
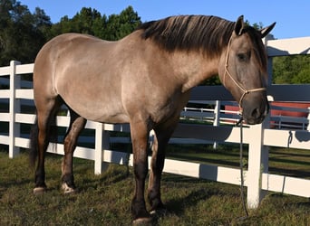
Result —
<instances>
[{"instance_id":1,"label":"clear blue sky above the trees and horse","mask_svg":"<svg viewBox=\"0 0 310 226\"><path fill-rule=\"evenodd\" d=\"M170 15L217 15L236 21L241 14L250 24L264 26L276 22L272 31L276 39L310 37L309 0L19 0L34 13L40 7L57 23L64 15L72 18L82 7L92 7L101 14L120 14L131 5L142 22Z\"/></svg>"}]
</instances>

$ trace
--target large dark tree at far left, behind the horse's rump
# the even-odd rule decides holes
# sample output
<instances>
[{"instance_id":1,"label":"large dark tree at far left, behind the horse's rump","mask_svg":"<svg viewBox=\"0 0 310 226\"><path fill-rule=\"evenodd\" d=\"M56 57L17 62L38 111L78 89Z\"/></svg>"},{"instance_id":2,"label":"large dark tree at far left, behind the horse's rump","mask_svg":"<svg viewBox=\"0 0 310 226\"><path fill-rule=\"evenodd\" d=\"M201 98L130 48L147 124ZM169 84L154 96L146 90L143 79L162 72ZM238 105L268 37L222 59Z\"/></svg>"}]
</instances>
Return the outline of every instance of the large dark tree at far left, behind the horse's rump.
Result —
<instances>
[{"instance_id":1,"label":"large dark tree at far left, behind the horse's rump","mask_svg":"<svg viewBox=\"0 0 310 226\"><path fill-rule=\"evenodd\" d=\"M33 62L51 22L39 8L31 14L18 1L0 0L0 25L0 65L8 65L11 60Z\"/></svg>"}]
</instances>

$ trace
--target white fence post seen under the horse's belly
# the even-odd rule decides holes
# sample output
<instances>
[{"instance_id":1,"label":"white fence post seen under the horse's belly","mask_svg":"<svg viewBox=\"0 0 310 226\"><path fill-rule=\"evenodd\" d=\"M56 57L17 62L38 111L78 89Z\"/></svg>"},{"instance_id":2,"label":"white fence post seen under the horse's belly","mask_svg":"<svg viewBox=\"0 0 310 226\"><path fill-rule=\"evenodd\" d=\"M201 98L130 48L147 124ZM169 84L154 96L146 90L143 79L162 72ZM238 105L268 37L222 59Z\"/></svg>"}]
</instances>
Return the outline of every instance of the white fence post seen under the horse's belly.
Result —
<instances>
[{"instance_id":1,"label":"white fence post seen under the horse's belly","mask_svg":"<svg viewBox=\"0 0 310 226\"><path fill-rule=\"evenodd\" d=\"M94 174L102 174L108 164L103 162L103 151L110 148L110 135L104 130L103 123L96 123Z\"/></svg>"}]
</instances>

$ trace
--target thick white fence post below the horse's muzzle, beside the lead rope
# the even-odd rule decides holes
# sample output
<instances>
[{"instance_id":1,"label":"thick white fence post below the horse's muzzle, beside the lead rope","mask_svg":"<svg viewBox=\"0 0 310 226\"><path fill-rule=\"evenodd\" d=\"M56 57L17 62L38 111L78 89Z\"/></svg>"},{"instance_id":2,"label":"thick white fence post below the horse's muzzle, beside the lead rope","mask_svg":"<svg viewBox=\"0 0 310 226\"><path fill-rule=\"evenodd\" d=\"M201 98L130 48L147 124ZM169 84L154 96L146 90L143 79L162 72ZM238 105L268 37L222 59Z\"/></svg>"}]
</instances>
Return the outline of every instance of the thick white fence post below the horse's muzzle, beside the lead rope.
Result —
<instances>
[{"instance_id":1,"label":"thick white fence post below the horse's muzzle, beside the lead rope","mask_svg":"<svg viewBox=\"0 0 310 226\"><path fill-rule=\"evenodd\" d=\"M268 146L263 146L264 129L269 127L269 115L262 124L251 126L248 145L247 207L256 209L266 195L262 191L262 174L268 172Z\"/></svg>"}]
</instances>

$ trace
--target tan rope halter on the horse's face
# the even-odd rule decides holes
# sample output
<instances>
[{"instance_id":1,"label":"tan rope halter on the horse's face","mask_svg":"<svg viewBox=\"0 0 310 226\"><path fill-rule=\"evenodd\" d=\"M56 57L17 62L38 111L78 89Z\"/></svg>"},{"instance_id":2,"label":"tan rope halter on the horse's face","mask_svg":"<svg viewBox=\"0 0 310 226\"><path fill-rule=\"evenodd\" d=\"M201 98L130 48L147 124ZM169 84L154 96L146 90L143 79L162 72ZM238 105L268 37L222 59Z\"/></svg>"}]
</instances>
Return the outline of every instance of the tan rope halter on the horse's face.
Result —
<instances>
[{"instance_id":1,"label":"tan rope halter on the horse's face","mask_svg":"<svg viewBox=\"0 0 310 226\"><path fill-rule=\"evenodd\" d=\"M228 71L228 58L229 58L229 49L230 49L231 39L232 39L232 36L229 39L228 50L226 52L225 72L224 72L224 82L223 83L224 83L224 86L225 86L226 75L228 75L230 80L232 80L236 84L237 88L239 88L239 89L241 89L243 91L243 94L241 95L241 98L239 99L239 102L238 102L238 105L239 105L239 108L240 108L240 115L242 115L241 104L242 104L242 100L246 97L246 95L248 93L250 93L250 92L266 91L266 88L262 87L262 88L257 88L257 89L246 89L242 84L240 84L240 82L238 82L237 80L234 79L234 77L231 76L231 74Z\"/></svg>"}]
</instances>

